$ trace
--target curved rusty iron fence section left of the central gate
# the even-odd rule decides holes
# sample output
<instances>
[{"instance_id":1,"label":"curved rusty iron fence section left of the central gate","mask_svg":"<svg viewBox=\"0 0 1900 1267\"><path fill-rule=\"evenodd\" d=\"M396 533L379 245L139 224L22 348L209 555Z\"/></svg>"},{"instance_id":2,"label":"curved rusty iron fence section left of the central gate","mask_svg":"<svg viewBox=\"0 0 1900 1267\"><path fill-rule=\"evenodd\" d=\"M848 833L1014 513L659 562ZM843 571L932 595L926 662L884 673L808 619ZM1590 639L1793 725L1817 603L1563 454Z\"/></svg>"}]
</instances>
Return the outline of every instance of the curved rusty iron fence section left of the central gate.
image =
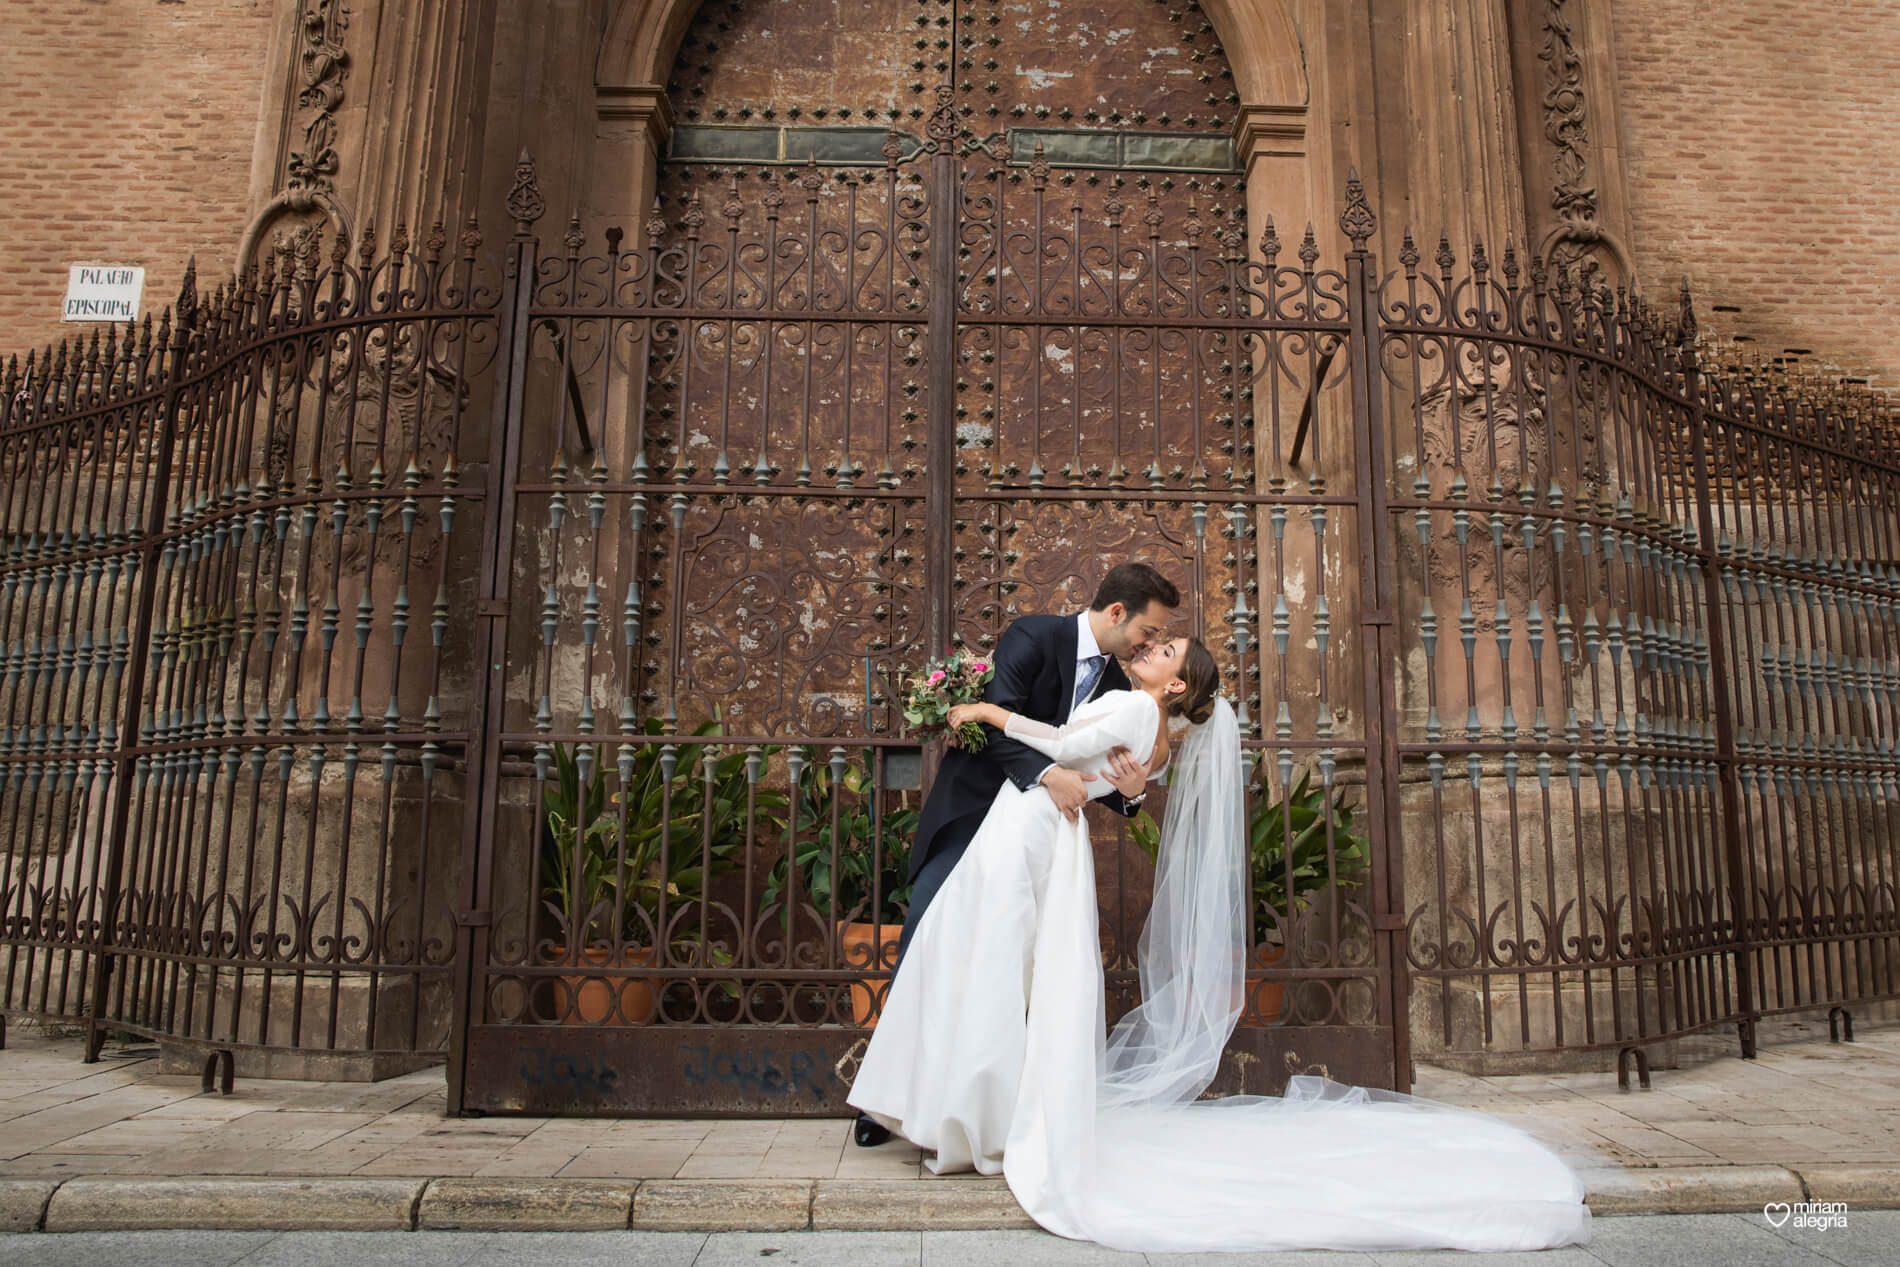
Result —
<instances>
[{"instance_id":1,"label":"curved rusty iron fence section left of the central gate","mask_svg":"<svg viewBox=\"0 0 1900 1267\"><path fill-rule=\"evenodd\" d=\"M10 363L6 1011L281 1071L441 1049L479 245L308 232Z\"/></svg>"}]
</instances>

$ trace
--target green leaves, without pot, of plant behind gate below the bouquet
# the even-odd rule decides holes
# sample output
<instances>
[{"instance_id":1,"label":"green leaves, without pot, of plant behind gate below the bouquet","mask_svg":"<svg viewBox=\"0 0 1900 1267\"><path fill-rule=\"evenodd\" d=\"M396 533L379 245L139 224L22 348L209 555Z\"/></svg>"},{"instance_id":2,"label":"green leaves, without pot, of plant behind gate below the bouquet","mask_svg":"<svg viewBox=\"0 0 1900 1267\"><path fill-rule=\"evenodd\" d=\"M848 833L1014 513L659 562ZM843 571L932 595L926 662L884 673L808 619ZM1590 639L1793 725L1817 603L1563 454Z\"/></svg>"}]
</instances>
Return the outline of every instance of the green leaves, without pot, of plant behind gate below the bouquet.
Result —
<instances>
[{"instance_id":1,"label":"green leaves, without pot, of plant behind gate below the bouquet","mask_svg":"<svg viewBox=\"0 0 1900 1267\"><path fill-rule=\"evenodd\" d=\"M901 923L904 906L910 902L910 842L918 834L918 811L904 804L887 807L882 823L872 824L872 777L868 773L870 750L863 760L844 758L836 766L819 748L802 752L806 766L798 773L798 813L792 819L798 828L798 842L792 851L792 864L798 868L798 883L804 900L819 912L832 910L838 900L838 916L866 923ZM836 809L836 824L832 813ZM872 836L882 842L882 849L872 849ZM832 843L838 845L838 864L832 866ZM882 874L876 866L882 862ZM760 897L760 912L785 900L787 860L781 857L766 878ZM878 908L870 910L872 889L878 891ZM788 923L790 912L781 914Z\"/></svg>"}]
</instances>

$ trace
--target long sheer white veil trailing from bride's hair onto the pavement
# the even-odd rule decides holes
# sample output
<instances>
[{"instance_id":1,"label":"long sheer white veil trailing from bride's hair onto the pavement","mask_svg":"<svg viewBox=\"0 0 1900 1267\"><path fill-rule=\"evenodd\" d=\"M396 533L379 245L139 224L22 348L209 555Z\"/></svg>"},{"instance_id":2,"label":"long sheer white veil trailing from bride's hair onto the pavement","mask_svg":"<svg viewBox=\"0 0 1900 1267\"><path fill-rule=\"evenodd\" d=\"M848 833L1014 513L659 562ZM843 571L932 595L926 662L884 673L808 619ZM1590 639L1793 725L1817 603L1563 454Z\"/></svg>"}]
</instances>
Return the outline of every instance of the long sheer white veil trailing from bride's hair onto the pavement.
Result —
<instances>
[{"instance_id":1,"label":"long sheer white veil trailing from bride's hair onto the pavement","mask_svg":"<svg viewBox=\"0 0 1900 1267\"><path fill-rule=\"evenodd\" d=\"M1049 1132L1034 1134L1083 1155L1060 1164L1022 1149L1034 1161L1011 1185L1024 1206L1053 1231L1151 1252L1586 1242L1577 1174L1499 1119L1311 1075L1282 1096L1197 1100L1244 999L1243 786L1239 722L1222 699L1176 758L1140 940L1142 1003L1106 1043L1094 1030L1092 1113L1087 1088L1043 1100L1049 1119L1091 1121L1045 1121ZM1013 1134L1011 1151L1018 1144Z\"/></svg>"}]
</instances>

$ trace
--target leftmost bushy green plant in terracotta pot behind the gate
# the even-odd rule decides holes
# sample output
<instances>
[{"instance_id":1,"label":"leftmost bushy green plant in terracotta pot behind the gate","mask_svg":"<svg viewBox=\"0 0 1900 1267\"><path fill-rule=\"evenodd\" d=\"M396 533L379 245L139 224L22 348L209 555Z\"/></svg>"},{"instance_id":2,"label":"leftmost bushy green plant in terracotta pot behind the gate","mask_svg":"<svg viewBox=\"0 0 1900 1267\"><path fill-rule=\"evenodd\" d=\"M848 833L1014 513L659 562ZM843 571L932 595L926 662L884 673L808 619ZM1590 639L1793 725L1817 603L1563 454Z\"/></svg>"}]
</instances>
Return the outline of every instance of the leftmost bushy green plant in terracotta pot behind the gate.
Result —
<instances>
[{"instance_id":1,"label":"leftmost bushy green plant in terracotta pot behind the gate","mask_svg":"<svg viewBox=\"0 0 1900 1267\"><path fill-rule=\"evenodd\" d=\"M716 720L705 722L694 735L711 737L718 729ZM644 733L661 737L661 722L648 720ZM623 967L652 963L661 942L686 954L697 946L697 906L707 881L737 864L747 805L756 815L754 824L783 823L787 798L750 786L747 766L754 756L770 756L770 750L720 754L711 743L671 741L625 745L608 762L598 747L549 745L545 767L553 777L543 775L542 792L547 815L543 874L549 879L542 897L564 933L559 957L566 959L576 940L576 959L606 965L619 946ZM619 775L612 794L608 769ZM730 961L730 954L711 952L711 965ZM638 1024L654 1016L652 978L625 978L618 1007L604 978L562 980L572 995L570 1024Z\"/></svg>"}]
</instances>

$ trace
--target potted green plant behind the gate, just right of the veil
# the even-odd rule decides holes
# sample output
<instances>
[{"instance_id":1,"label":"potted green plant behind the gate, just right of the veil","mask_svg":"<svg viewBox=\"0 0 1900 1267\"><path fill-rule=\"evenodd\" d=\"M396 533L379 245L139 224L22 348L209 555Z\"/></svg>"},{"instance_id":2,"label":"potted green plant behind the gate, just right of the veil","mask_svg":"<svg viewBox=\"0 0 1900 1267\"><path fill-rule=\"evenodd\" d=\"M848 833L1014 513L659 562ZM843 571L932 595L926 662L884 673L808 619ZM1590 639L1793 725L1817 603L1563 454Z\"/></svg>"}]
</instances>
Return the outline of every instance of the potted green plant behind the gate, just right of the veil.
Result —
<instances>
[{"instance_id":1,"label":"potted green plant behind the gate, just right of the veil","mask_svg":"<svg viewBox=\"0 0 1900 1267\"><path fill-rule=\"evenodd\" d=\"M1252 881L1254 948L1252 967L1273 967L1286 957L1286 927L1313 898L1338 879L1338 887L1362 883L1368 842L1353 832L1355 807L1347 788L1311 786L1313 771L1300 775L1292 792L1269 800L1265 788L1246 823ZM1332 824L1332 868L1326 864L1326 824ZM1148 811L1129 824L1134 843L1155 860L1161 828ZM1288 864L1288 859L1292 860ZM1243 1024L1271 1024L1281 1018L1284 988L1277 980L1246 982Z\"/></svg>"}]
</instances>

